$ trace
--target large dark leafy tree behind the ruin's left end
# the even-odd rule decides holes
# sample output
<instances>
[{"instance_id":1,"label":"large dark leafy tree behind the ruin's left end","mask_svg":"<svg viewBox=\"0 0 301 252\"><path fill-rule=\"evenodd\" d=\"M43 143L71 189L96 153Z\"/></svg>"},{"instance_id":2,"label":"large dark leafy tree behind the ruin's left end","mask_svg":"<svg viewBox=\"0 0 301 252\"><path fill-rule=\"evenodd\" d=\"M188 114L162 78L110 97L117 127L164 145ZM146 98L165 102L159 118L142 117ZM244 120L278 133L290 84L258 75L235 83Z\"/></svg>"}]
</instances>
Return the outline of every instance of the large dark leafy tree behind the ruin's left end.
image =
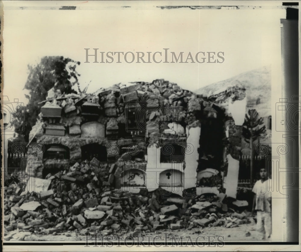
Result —
<instances>
[{"instance_id":1,"label":"large dark leafy tree behind the ruin's left end","mask_svg":"<svg viewBox=\"0 0 301 252\"><path fill-rule=\"evenodd\" d=\"M45 56L36 66L28 65L28 77L24 89L29 90L28 104L23 108L25 121L23 117L17 117L14 123L15 131L24 127L24 131L19 134L19 138L29 141L29 132L35 125L40 113L39 102L47 97L47 92L55 86L55 90L60 89L62 94L77 93L72 89L74 85L78 86L78 77L76 66L80 62L74 61L63 56Z\"/></svg>"}]
</instances>

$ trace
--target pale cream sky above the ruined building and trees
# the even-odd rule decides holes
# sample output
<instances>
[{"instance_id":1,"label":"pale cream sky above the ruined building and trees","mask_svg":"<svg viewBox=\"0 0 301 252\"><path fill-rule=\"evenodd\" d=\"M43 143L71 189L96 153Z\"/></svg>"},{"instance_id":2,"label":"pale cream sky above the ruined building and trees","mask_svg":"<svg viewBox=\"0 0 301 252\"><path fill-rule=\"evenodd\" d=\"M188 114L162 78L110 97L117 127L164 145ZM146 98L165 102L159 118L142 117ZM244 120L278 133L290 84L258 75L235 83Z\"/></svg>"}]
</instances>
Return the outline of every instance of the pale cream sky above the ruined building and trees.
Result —
<instances>
[{"instance_id":1,"label":"pale cream sky above the ruined building and trees","mask_svg":"<svg viewBox=\"0 0 301 252\"><path fill-rule=\"evenodd\" d=\"M43 1L44 2L44 1ZM23 9L4 2L4 95L26 103L27 65L43 56L81 62L79 83L88 92L130 81L164 78L192 91L273 63L283 9L161 9L143 2L74 1L76 10L58 10L56 1L29 2ZM157 2L156 2L157 3ZM196 4L197 3L197 4ZM20 5L20 4L19 4ZM43 5L43 6L42 6ZM114 6L115 5L115 6ZM158 5L158 4L157 4ZM164 5L162 3L162 5ZM199 5L199 1L194 2ZM224 52L223 63L90 63L84 48L108 52ZM100 56L100 54L98 55ZM130 58L130 57L129 57ZM184 57L186 58L186 57Z\"/></svg>"}]
</instances>

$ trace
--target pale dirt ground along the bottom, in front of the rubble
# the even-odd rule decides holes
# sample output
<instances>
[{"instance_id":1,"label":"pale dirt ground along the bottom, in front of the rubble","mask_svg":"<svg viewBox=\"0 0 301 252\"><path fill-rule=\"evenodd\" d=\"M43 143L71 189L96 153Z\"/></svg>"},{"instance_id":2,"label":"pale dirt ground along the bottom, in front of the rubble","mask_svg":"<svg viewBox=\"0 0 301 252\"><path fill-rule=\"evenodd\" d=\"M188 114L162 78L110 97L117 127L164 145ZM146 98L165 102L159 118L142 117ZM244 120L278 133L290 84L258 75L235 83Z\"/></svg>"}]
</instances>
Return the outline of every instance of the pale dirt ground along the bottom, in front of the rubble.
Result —
<instances>
[{"instance_id":1,"label":"pale dirt ground along the bottom, in front of the rubble","mask_svg":"<svg viewBox=\"0 0 301 252\"><path fill-rule=\"evenodd\" d=\"M165 235L164 232L169 232L168 235ZM92 232L91 232L92 233ZM93 235L93 234L92 234ZM127 235L126 232L124 233L116 233L115 235L123 235L124 237ZM147 236L151 236L151 238L146 238ZM205 241L203 238L199 237L198 242L208 242L208 236L215 236L216 238L219 236L219 241L264 241L259 240L257 231L256 231L256 225L254 224L242 224L234 228L225 228L225 227L206 227L206 228L192 228L191 230L157 230L154 232L147 232L143 237L145 238L144 242L147 241L153 241L152 239L155 236L157 237L154 241L172 241L171 236L174 236L176 241L182 236L183 242L187 242L188 239L191 238L192 242L196 241L196 238L198 236L205 236ZM162 240L160 240L160 236L162 237ZM190 237L190 238L189 238ZM222 238L223 237L223 238ZM89 237L93 238L93 236ZM40 235L40 234L31 234L26 237L24 237L24 241L85 241L86 237L83 232L79 231L70 231L70 232L64 232L64 233L58 233L58 234L48 234L48 235ZM111 238L112 239L112 238ZM148 240L147 240L148 239ZM214 238L210 238L210 241L212 241ZM10 241L14 241L14 239L11 239ZM98 240L101 242L101 240ZM117 242L116 240L113 240ZM121 240L122 241L122 240ZM129 240L130 241L130 240ZM141 239L139 240L141 241ZM190 240L189 240L190 241ZM218 241L215 239L215 241Z\"/></svg>"}]
</instances>

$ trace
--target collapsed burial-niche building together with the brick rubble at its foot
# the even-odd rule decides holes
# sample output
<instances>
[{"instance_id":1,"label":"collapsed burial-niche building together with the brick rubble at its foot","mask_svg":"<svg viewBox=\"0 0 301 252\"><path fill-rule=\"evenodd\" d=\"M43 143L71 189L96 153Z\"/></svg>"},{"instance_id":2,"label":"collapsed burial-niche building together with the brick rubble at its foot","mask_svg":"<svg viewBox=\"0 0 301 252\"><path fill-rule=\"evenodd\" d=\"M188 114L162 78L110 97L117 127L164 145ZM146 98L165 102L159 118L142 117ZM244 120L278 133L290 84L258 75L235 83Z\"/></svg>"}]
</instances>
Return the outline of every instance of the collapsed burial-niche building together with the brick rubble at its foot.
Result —
<instances>
[{"instance_id":1,"label":"collapsed burial-niche building together with the brick rubble at its foot","mask_svg":"<svg viewBox=\"0 0 301 252\"><path fill-rule=\"evenodd\" d=\"M244 87L207 97L157 79L87 95L52 93L29 134L36 169L28 165L31 177L5 190L8 240L254 222L248 203L236 200L244 115L234 112Z\"/></svg>"}]
</instances>

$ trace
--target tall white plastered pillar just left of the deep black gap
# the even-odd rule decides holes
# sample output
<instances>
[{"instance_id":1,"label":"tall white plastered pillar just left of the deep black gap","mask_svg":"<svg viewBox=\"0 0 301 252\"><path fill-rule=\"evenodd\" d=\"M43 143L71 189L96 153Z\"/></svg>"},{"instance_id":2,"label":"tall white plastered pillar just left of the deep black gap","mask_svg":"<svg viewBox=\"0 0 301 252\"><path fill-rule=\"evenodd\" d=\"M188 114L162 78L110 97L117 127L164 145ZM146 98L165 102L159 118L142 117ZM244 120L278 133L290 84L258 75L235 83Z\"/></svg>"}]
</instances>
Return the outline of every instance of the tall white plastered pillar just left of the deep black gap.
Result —
<instances>
[{"instance_id":1,"label":"tall white plastered pillar just left of the deep black gap","mask_svg":"<svg viewBox=\"0 0 301 252\"><path fill-rule=\"evenodd\" d=\"M198 159L199 159L199 153L197 152L197 149L200 147L200 134L201 134L201 128L199 126L193 127L188 129L186 128L187 132L187 140L186 142L188 144L191 144L193 146L193 151L189 152L189 146L185 152L185 185L184 188L188 189L191 187L196 187L197 185L197 166L198 166Z\"/></svg>"}]
</instances>

